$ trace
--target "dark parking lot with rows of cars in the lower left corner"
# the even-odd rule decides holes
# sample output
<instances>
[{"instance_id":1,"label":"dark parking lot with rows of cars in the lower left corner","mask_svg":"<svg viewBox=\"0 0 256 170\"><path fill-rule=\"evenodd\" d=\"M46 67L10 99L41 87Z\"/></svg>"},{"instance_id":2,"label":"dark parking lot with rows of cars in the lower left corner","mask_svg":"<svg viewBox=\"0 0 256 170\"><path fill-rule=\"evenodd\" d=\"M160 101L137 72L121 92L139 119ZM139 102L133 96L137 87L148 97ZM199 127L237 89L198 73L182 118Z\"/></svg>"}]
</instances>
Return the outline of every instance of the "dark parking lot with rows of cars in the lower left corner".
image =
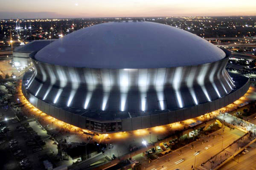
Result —
<instances>
[{"instance_id":1,"label":"dark parking lot with rows of cars in the lower left corner","mask_svg":"<svg viewBox=\"0 0 256 170\"><path fill-rule=\"evenodd\" d=\"M57 143L35 119L28 118L21 123L16 118L3 120L0 130L0 150L4 153L0 169L44 170L44 160L51 161L55 167L72 164L72 161L59 162Z\"/></svg>"}]
</instances>

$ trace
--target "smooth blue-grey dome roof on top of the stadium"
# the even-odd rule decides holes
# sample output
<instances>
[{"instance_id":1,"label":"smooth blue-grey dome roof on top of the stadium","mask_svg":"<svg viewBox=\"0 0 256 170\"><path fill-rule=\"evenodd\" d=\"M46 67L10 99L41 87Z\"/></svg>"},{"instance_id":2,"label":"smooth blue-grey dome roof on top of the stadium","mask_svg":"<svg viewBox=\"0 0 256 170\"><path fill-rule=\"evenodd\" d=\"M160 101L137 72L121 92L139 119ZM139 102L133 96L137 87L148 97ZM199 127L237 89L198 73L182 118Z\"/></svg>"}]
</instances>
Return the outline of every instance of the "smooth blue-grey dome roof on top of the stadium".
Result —
<instances>
[{"instance_id":1,"label":"smooth blue-grey dome roof on top of the stadium","mask_svg":"<svg viewBox=\"0 0 256 170\"><path fill-rule=\"evenodd\" d=\"M170 68L215 62L224 51L179 28L151 22L110 22L67 34L35 59L85 68Z\"/></svg>"}]
</instances>

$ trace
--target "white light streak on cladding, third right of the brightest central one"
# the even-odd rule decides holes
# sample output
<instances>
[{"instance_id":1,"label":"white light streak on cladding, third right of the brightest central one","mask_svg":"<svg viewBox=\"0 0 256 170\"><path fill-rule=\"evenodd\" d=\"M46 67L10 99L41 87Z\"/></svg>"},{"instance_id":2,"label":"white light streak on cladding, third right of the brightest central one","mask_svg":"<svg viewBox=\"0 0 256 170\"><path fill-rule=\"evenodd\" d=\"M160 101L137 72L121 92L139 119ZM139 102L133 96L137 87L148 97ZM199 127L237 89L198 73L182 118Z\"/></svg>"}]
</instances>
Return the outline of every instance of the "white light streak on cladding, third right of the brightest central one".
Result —
<instances>
[{"instance_id":1,"label":"white light streak on cladding, third right of the brightest central one","mask_svg":"<svg viewBox=\"0 0 256 170\"><path fill-rule=\"evenodd\" d=\"M177 67L175 69L174 77L173 77L173 82L172 86L175 89L176 97L179 103L179 107L183 108L183 102L180 96L180 78L182 76L182 67Z\"/></svg>"}]
</instances>

